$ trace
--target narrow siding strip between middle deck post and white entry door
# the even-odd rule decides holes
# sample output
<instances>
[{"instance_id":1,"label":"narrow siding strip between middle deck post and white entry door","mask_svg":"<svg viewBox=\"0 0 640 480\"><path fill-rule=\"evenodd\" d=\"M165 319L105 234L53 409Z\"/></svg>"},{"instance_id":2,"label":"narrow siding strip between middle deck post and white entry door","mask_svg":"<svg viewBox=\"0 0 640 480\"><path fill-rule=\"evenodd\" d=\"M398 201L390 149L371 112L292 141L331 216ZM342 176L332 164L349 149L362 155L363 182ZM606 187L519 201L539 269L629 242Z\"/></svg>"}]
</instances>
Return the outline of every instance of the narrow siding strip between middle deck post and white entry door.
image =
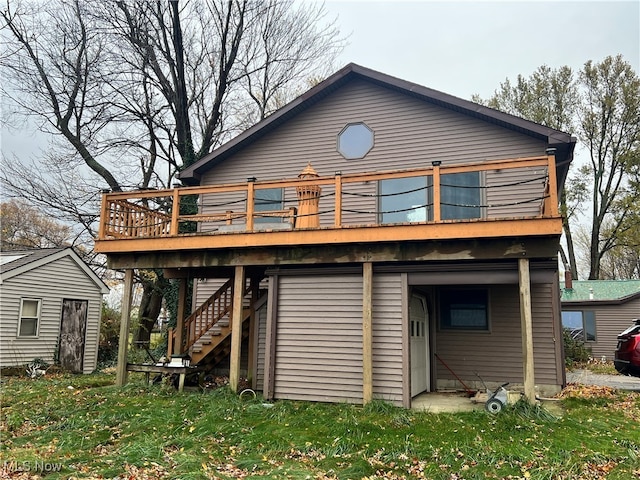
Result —
<instances>
[{"instance_id":1,"label":"narrow siding strip between middle deck post and white entry door","mask_svg":"<svg viewBox=\"0 0 640 480\"><path fill-rule=\"evenodd\" d=\"M402 277L373 275L373 396L402 405Z\"/></svg>"}]
</instances>

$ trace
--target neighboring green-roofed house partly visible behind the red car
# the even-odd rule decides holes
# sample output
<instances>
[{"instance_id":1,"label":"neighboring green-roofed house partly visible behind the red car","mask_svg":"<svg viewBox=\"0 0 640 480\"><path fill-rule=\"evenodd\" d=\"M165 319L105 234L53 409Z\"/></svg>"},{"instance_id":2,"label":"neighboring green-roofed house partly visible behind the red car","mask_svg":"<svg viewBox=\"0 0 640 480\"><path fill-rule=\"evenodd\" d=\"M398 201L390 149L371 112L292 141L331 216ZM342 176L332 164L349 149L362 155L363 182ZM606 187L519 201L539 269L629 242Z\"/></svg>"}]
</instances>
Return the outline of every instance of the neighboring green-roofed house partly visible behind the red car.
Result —
<instances>
[{"instance_id":1,"label":"neighboring green-roofed house partly visible behind the red car","mask_svg":"<svg viewBox=\"0 0 640 480\"><path fill-rule=\"evenodd\" d=\"M562 325L594 358L613 360L617 336L640 318L640 280L562 282Z\"/></svg>"}]
</instances>

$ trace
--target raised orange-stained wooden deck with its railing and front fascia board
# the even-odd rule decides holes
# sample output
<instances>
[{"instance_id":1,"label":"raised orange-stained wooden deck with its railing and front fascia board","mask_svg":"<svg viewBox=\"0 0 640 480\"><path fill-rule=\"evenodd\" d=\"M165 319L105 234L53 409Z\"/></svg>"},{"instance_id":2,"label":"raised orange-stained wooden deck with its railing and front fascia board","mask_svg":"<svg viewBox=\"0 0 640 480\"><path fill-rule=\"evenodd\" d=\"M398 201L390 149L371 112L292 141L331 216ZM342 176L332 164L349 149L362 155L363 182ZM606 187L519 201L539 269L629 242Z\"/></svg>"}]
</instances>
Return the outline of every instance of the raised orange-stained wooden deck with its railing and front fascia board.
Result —
<instances>
[{"instance_id":1,"label":"raised orange-stained wooden deck with its railing and front fascia board","mask_svg":"<svg viewBox=\"0 0 640 480\"><path fill-rule=\"evenodd\" d=\"M529 203L531 214L526 216L484 215L481 218L446 220L442 218L441 191L443 175L509 171L543 172L530 183L527 197L517 198L514 205ZM419 206L429 209L429 218L415 222L381 223L379 215L370 215L371 221L353 221L344 207L347 195L362 185L381 180L426 177L430 203ZM494 182L495 183L495 182ZM533 185L533 186L531 186ZM256 196L266 189L281 189L283 203L295 203L296 191L320 187L323 205L317 227L300 228L300 212L293 205L268 211L256 211ZM491 185L498 189L505 185ZM513 185L510 185L513 191ZM331 198L332 197L332 198ZM236 207L226 206L224 199L239 199ZM185 211L187 202L206 199L198 213ZM223 199L216 203L216 199ZM372 205L375 210L375 199ZM204 203L204 202L201 202ZM228 202L230 203L230 202ZM216 207L217 205L217 207ZM506 205L506 207L505 207ZM501 205L501 212L508 209ZM491 206L490 206L491 207ZM308 215L308 214L307 214ZM347 219L349 217L350 219ZM266 222L265 222L266 220ZM257 248L326 247L327 245L379 244L412 241L477 240L488 238L526 238L533 236L559 236L562 233L558 213L555 159L552 155L496 160L472 165L434 165L415 170L362 173L291 179L278 181L247 181L246 183L183 187L167 190L144 190L106 193L102 199L99 234L95 250L107 255L126 255L150 252L176 251L239 251Z\"/></svg>"}]
</instances>

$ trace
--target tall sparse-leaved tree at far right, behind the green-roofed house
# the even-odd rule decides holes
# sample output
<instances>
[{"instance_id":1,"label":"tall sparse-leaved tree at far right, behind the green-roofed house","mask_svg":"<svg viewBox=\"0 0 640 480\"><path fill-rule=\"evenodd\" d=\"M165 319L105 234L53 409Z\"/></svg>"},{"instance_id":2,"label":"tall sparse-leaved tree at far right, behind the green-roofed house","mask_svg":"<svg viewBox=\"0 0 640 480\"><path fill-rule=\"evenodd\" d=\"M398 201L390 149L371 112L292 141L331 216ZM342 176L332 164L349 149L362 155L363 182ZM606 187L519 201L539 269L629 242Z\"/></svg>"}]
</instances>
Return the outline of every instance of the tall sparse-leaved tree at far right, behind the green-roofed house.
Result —
<instances>
[{"instance_id":1,"label":"tall sparse-leaved tree at far right, behind the green-roofed house","mask_svg":"<svg viewBox=\"0 0 640 480\"><path fill-rule=\"evenodd\" d=\"M630 174L640 165L640 79L621 56L587 62L580 73L580 133L589 149L585 179L593 185L589 279L620 244L637 203L628 201Z\"/></svg>"}]
</instances>

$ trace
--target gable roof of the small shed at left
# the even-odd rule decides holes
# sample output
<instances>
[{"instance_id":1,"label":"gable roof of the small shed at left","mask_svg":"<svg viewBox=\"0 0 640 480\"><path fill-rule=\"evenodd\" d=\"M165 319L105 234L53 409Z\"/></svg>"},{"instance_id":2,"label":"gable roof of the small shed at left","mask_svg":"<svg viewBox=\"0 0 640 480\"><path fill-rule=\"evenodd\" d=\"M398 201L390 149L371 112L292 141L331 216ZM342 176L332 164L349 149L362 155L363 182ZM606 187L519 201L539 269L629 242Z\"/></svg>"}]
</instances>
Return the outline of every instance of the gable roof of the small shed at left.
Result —
<instances>
[{"instance_id":1,"label":"gable roof of the small shed at left","mask_svg":"<svg viewBox=\"0 0 640 480\"><path fill-rule=\"evenodd\" d=\"M70 247L0 252L0 285L10 278L64 257L71 258L103 294L109 293L109 287Z\"/></svg>"}]
</instances>

